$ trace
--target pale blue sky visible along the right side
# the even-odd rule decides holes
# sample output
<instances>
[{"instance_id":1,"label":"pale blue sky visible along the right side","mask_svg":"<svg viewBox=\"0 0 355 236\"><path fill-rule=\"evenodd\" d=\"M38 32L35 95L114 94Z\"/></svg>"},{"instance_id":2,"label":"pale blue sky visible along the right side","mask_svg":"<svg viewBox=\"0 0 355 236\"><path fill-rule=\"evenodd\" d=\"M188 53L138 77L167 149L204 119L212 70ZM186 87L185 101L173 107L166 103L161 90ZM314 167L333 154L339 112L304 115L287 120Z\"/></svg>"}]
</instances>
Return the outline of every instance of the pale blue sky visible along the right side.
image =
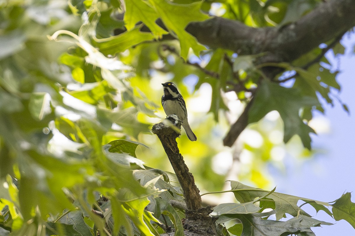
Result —
<instances>
[{"instance_id":1,"label":"pale blue sky visible along the right side","mask_svg":"<svg viewBox=\"0 0 355 236\"><path fill-rule=\"evenodd\" d=\"M345 54L337 58L328 54L333 67L340 68L337 81L342 86L339 97L348 105L350 115L342 105L325 105L325 116L331 123L331 132L312 136L312 146L324 150L302 165L293 163L286 174L276 174L277 191L330 202L344 192L355 191L355 33L346 34L341 43ZM321 115L316 113L315 116ZM355 192L351 200L355 202ZM308 209L305 208L308 212ZM311 211L312 212L312 211ZM312 212L316 215L316 212ZM317 219L335 223L326 213L318 212ZM345 220L335 225L312 228L317 236L355 235L355 229Z\"/></svg>"}]
</instances>

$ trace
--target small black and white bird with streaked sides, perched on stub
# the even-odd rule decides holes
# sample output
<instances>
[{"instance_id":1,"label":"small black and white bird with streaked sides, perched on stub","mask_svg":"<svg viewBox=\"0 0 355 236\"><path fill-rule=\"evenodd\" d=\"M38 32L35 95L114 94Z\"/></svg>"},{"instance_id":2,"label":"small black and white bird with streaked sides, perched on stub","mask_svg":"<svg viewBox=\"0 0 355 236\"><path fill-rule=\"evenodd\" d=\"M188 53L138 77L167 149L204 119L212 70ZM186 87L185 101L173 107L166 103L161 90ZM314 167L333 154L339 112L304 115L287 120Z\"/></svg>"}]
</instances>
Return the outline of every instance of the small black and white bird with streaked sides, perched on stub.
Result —
<instances>
[{"instance_id":1,"label":"small black and white bird with streaked sides, perched on stub","mask_svg":"<svg viewBox=\"0 0 355 236\"><path fill-rule=\"evenodd\" d=\"M187 137L191 141L196 141L197 137L192 132L189 122L187 122L187 110L184 98L178 91L176 85L172 82L166 82L163 85L164 95L162 96L162 105L165 114L175 114L179 116L182 127L184 127Z\"/></svg>"}]
</instances>

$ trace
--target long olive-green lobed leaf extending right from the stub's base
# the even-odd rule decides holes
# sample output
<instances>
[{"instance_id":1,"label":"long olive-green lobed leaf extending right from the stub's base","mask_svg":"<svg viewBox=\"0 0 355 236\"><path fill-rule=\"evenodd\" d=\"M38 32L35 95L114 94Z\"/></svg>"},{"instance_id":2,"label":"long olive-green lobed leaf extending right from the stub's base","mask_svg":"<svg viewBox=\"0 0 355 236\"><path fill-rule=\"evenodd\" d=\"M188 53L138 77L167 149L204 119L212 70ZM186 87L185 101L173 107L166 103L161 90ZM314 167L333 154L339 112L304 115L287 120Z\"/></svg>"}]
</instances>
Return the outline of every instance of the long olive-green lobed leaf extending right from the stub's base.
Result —
<instances>
[{"instance_id":1,"label":"long olive-green lobed leaf extending right from the stub's base","mask_svg":"<svg viewBox=\"0 0 355 236\"><path fill-rule=\"evenodd\" d=\"M256 198L260 198L260 197L262 197L260 200L260 205L264 204L264 202L270 201L269 199L274 201L277 220L281 219L285 213L289 213L293 216L296 216L299 214L299 211L300 214L302 215L310 216L308 213L303 211L299 206L297 206L297 202L299 200L305 202L312 202L312 206L315 205L330 206L329 203L327 202L321 202L321 201L316 201L308 198L282 194L279 192L272 192L267 196L267 198L266 197L264 198L263 196L265 196L265 194L269 191L253 188L251 186L244 185L237 181L231 181L230 185L232 190L237 190L237 191L233 191L233 193L235 198L240 203L255 201Z\"/></svg>"}]
</instances>

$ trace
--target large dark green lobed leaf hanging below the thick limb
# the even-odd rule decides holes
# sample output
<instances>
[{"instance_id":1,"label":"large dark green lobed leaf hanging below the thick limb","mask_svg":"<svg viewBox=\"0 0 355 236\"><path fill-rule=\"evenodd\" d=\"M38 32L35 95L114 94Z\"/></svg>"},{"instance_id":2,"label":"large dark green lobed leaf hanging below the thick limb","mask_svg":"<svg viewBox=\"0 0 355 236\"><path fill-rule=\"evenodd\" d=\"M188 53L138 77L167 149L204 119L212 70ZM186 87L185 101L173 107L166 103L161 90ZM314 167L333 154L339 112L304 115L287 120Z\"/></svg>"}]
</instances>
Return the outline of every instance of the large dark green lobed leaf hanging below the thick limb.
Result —
<instances>
[{"instance_id":1,"label":"large dark green lobed leaf hanging below the thick limb","mask_svg":"<svg viewBox=\"0 0 355 236\"><path fill-rule=\"evenodd\" d=\"M301 108L319 104L316 98L302 96L296 88L285 88L263 80L249 111L249 123L257 122L270 111L276 110L284 122L284 142L287 143L297 134L303 145L311 149L309 133L314 133L314 131L302 121L299 111Z\"/></svg>"}]
</instances>

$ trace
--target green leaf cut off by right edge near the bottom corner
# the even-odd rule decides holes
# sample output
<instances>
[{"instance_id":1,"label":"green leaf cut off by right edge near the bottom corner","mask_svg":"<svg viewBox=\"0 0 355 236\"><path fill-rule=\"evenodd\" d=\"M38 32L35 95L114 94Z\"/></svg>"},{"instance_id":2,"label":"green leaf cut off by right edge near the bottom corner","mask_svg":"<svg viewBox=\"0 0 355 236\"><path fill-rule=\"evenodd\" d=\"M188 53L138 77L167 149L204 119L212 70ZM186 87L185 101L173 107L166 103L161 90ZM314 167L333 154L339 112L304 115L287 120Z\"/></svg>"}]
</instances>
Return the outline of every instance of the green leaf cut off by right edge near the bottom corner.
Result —
<instances>
[{"instance_id":1,"label":"green leaf cut off by right edge near the bottom corner","mask_svg":"<svg viewBox=\"0 0 355 236\"><path fill-rule=\"evenodd\" d=\"M355 228L355 203L351 202L351 193L343 194L332 204L332 212L335 220L344 219Z\"/></svg>"}]
</instances>

